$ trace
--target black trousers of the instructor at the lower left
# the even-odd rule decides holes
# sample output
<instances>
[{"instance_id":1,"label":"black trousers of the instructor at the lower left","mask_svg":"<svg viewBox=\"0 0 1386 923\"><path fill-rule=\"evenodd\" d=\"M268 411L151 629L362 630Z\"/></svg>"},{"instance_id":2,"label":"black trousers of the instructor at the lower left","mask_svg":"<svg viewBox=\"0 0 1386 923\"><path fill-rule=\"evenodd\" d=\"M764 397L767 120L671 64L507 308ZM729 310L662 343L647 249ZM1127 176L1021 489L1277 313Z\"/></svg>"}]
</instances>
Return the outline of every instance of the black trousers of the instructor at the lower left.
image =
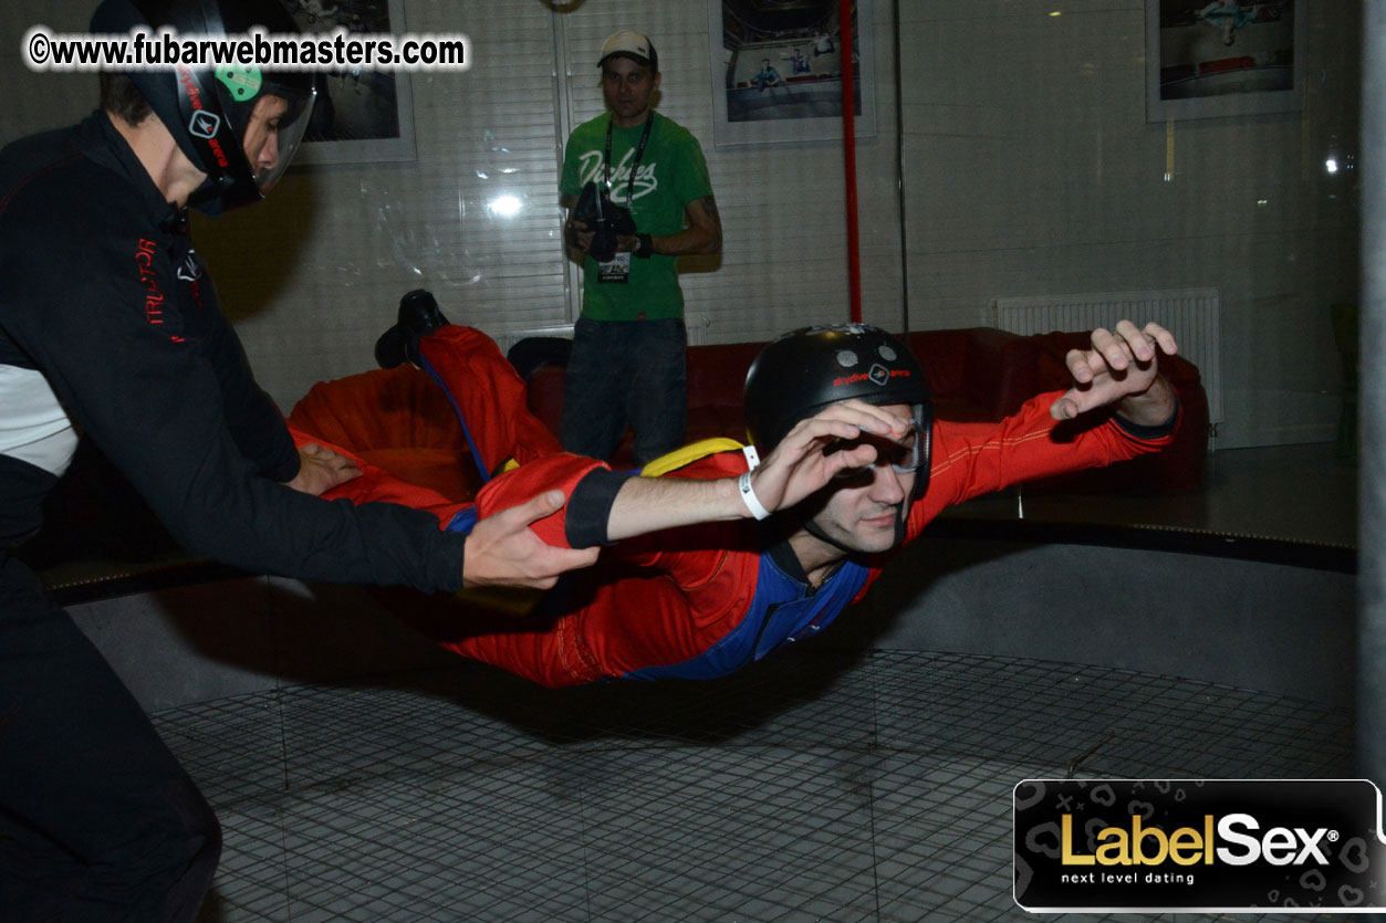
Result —
<instances>
[{"instance_id":1,"label":"black trousers of the instructor at the lower left","mask_svg":"<svg viewBox=\"0 0 1386 923\"><path fill-rule=\"evenodd\" d=\"M220 850L139 703L0 552L0 917L193 920Z\"/></svg>"}]
</instances>

